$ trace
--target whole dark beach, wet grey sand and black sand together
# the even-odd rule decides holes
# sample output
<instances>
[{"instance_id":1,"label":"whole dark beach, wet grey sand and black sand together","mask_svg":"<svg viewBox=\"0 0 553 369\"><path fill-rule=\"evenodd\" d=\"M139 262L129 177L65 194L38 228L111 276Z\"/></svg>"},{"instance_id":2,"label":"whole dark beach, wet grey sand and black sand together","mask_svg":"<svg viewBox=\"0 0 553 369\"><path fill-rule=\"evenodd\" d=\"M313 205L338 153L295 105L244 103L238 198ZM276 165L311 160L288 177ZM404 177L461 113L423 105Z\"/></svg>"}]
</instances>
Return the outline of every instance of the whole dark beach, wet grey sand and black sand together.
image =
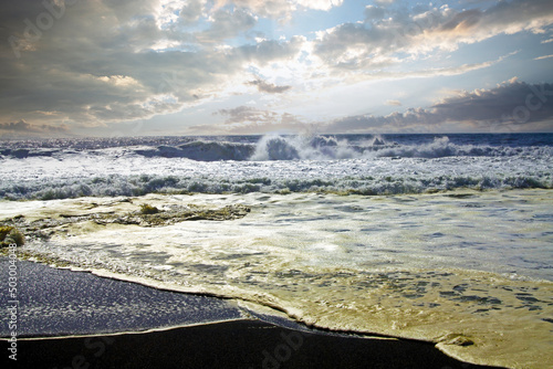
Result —
<instances>
[{"instance_id":1,"label":"whole dark beach, wet grey sand and black sand together","mask_svg":"<svg viewBox=\"0 0 553 369\"><path fill-rule=\"evenodd\" d=\"M4 260L0 264L7 274ZM231 302L213 297L18 265L21 336L35 338L19 337L15 366L4 352L2 361L14 368L484 368L427 342L283 327L243 318ZM122 309L125 302L132 308Z\"/></svg>"}]
</instances>

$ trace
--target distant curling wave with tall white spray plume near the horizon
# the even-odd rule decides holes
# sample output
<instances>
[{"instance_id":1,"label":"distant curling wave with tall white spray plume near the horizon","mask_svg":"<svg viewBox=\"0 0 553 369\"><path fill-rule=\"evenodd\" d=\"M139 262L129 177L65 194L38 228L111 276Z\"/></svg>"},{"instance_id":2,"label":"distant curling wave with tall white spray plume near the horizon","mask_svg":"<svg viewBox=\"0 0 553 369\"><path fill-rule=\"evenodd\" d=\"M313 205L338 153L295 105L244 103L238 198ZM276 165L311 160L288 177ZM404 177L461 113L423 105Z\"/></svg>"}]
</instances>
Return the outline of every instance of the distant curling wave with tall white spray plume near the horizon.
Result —
<instances>
[{"instance_id":1,"label":"distant curling wave with tall white spray plume near the horizon","mask_svg":"<svg viewBox=\"0 0 553 369\"><path fill-rule=\"evenodd\" d=\"M159 146L137 149L147 157L179 157L191 160L340 160L359 158L444 158L444 157L509 157L553 156L547 146L490 146L453 144L447 136L431 143L400 145L375 136L361 143L349 143L333 136L267 135L257 144L194 141L178 147Z\"/></svg>"}]
</instances>

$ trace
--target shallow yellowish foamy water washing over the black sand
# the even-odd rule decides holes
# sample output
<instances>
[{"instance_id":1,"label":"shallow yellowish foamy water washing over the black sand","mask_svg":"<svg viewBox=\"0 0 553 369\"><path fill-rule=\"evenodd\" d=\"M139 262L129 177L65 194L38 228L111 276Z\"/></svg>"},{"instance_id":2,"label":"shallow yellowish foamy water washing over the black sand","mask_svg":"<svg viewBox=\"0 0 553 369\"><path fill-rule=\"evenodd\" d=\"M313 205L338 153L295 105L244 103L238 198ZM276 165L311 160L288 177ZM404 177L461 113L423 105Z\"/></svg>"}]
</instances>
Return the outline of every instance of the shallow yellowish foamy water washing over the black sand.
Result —
<instances>
[{"instance_id":1,"label":"shallow yellowish foamy water washing over the black sand","mask_svg":"<svg viewBox=\"0 0 553 369\"><path fill-rule=\"evenodd\" d=\"M550 190L195 194L0 202L2 218L251 207L232 221L66 223L22 251L105 276L271 306L310 325L439 342L459 359L553 360ZM465 337L472 345L458 346Z\"/></svg>"}]
</instances>

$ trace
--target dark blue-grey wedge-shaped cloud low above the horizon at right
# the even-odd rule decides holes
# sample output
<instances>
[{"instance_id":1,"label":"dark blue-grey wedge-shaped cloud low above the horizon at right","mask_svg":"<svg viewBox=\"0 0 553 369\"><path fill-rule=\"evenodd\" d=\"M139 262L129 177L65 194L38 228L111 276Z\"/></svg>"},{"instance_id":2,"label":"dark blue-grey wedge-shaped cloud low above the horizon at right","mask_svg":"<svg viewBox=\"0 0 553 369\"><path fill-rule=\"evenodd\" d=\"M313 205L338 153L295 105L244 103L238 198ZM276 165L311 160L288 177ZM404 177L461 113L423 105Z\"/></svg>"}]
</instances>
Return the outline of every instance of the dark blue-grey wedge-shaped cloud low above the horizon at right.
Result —
<instances>
[{"instance_id":1,"label":"dark blue-grey wedge-shaped cloud low above the horizon at right","mask_svg":"<svg viewBox=\"0 0 553 369\"><path fill-rule=\"evenodd\" d=\"M501 131L551 130L553 84L512 78L491 89L460 92L429 108L408 108L386 116L357 115L336 119L325 131Z\"/></svg>"}]
</instances>

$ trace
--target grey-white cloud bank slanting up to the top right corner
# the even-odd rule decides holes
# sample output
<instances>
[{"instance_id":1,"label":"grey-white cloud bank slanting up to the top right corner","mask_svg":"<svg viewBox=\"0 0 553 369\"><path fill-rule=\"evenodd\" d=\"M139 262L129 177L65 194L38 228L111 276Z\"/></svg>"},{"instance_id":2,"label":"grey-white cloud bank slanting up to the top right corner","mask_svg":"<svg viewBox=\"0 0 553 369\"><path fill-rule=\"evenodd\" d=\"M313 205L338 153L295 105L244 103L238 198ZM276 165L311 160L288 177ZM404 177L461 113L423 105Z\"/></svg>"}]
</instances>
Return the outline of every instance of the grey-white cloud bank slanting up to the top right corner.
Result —
<instances>
[{"instance_id":1,"label":"grey-white cloud bank slanting up to the top right corner","mask_svg":"<svg viewBox=\"0 0 553 369\"><path fill-rule=\"evenodd\" d=\"M382 67L401 60L419 59L430 52L457 50L499 34L522 31L544 32L553 24L553 2L549 0L500 1L487 10L458 11L416 7L365 9L365 22L344 23L319 32L314 54L332 68Z\"/></svg>"}]
</instances>

